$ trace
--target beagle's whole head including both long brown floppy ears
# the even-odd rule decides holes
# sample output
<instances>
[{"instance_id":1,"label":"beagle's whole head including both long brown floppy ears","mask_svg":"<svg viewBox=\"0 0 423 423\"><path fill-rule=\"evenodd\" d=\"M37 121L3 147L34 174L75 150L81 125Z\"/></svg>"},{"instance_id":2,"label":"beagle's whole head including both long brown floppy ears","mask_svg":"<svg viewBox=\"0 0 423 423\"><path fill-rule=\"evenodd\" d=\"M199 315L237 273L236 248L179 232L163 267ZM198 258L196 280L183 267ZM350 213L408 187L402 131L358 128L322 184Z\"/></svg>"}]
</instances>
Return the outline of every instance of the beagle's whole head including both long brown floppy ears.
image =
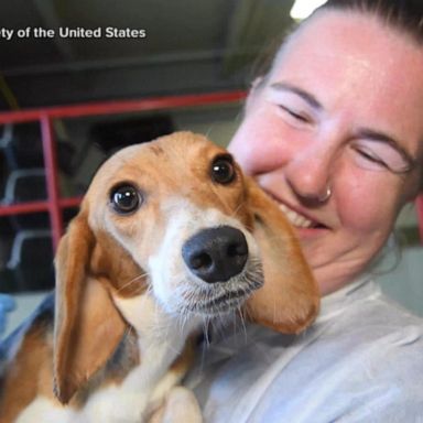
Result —
<instances>
[{"instance_id":1,"label":"beagle's whole head including both long brown floppy ears","mask_svg":"<svg viewBox=\"0 0 423 423\"><path fill-rule=\"evenodd\" d=\"M241 307L284 333L306 327L318 310L278 205L225 150L188 132L109 159L61 240L54 375L62 402L137 328L144 297L184 323Z\"/></svg>"}]
</instances>

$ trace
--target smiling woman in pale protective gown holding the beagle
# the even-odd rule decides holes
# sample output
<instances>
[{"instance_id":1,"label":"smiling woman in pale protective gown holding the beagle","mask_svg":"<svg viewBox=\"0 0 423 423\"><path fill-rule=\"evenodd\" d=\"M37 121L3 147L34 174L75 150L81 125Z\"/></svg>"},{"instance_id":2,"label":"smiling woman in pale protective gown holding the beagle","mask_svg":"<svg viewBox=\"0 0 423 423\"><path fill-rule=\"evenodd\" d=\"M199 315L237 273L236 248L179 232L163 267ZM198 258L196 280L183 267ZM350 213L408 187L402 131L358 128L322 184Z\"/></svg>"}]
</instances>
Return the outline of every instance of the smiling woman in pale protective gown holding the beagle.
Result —
<instances>
[{"instance_id":1,"label":"smiling woman in pale protective gown holding the beagle","mask_svg":"<svg viewBox=\"0 0 423 423\"><path fill-rule=\"evenodd\" d=\"M423 185L414 9L329 1L254 82L229 150L296 227L324 299L300 337L251 326L212 345L188 379L206 421L423 421L422 319L368 273Z\"/></svg>"}]
</instances>

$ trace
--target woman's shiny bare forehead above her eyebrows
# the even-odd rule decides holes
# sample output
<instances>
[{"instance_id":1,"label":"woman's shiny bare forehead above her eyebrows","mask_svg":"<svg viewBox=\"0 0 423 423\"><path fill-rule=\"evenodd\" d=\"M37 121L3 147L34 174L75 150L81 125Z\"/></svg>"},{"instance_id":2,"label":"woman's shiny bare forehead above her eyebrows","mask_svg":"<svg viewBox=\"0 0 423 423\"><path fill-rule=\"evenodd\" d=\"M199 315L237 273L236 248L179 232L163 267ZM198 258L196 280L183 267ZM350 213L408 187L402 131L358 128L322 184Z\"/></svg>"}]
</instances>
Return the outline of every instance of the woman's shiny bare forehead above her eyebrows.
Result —
<instances>
[{"instance_id":1,"label":"woman's shiny bare forehead above her eyebrows","mask_svg":"<svg viewBox=\"0 0 423 423\"><path fill-rule=\"evenodd\" d=\"M408 35L373 17L330 11L291 36L268 87L296 85L324 107L349 108L362 123L394 132L423 155L422 69L423 46Z\"/></svg>"}]
</instances>

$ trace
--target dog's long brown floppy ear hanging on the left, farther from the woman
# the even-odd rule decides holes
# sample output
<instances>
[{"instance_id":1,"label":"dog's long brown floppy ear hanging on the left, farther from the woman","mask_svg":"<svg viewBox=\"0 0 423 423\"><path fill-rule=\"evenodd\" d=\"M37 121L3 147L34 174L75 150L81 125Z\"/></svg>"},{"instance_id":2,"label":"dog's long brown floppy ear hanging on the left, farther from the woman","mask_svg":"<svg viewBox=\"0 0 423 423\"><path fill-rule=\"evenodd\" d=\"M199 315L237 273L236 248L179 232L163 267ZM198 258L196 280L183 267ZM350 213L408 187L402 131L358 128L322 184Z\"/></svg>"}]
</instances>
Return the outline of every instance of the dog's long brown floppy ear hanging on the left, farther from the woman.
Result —
<instances>
[{"instance_id":1,"label":"dog's long brown floppy ear hanging on the left, farther from the woman","mask_svg":"<svg viewBox=\"0 0 423 423\"><path fill-rule=\"evenodd\" d=\"M89 274L95 243L80 212L56 254L54 390L62 403L106 364L126 329L104 281Z\"/></svg>"}]
</instances>

